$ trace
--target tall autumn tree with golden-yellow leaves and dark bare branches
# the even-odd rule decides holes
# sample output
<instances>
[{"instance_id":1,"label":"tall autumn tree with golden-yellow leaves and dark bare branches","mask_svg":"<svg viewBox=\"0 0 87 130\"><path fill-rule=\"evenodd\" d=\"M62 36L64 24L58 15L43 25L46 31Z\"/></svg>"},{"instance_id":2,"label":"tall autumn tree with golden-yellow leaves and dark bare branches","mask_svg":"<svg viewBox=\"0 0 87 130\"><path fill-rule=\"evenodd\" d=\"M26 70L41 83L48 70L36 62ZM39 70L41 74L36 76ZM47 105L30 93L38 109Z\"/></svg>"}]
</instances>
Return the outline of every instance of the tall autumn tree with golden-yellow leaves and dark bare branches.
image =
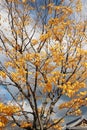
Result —
<instances>
[{"instance_id":1,"label":"tall autumn tree with golden-yellow leaves and dark bare branches","mask_svg":"<svg viewBox=\"0 0 87 130\"><path fill-rule=\"evenodd\" d=\"M54 1L46 3L45 0L41 11L35 2L4 1L9 24L7 30L0 30L0 53L6 56L4 63L0 61L0 82L7 86L18 105L17 111L10 115L16 125L27 130L61 130L65 116L79 115L80 108L87 105L86 21L77 23L70 18L74 11L71 0L67 6L64 1L59 6ZM81 10L79 1L75 8ZM32 11L36 11L35 20ZM42 17L44 11L47 11L45 21ZM17 89L16 96L10 91L11 87ZM61 118L52 118L57 113L54 108L62 95L69 97L69 101L61 103L58 109L67 108L67 111ZM24 101L32 112L23 110ZM15 114L23 115L24 121L18 122Z\"/></svg>"}]
</instances>

